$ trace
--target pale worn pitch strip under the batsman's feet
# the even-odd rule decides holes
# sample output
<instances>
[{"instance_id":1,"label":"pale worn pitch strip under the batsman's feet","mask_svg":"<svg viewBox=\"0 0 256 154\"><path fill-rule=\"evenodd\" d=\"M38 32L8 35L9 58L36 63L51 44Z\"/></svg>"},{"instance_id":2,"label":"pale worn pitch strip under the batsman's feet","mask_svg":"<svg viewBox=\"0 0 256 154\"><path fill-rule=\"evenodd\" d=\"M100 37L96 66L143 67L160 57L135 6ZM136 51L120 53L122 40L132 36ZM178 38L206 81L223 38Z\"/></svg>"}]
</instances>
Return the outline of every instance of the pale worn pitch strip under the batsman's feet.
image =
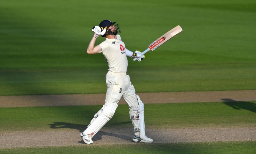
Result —
<instances>
[{"instance_id":1,"label":"pale worn pitch strip under the batsman's feet","mask_svg":"<svg viewBox=\"0 0 256 154\"><path fill-rule=\"evenodd\" d=\"M146 129L154 143L256 141L256 128ZM96 145L132 142L132 128L103 127L93 138ZM0 132L0 148L83 145L79 130Z\"/></svg>"}]
</instances>

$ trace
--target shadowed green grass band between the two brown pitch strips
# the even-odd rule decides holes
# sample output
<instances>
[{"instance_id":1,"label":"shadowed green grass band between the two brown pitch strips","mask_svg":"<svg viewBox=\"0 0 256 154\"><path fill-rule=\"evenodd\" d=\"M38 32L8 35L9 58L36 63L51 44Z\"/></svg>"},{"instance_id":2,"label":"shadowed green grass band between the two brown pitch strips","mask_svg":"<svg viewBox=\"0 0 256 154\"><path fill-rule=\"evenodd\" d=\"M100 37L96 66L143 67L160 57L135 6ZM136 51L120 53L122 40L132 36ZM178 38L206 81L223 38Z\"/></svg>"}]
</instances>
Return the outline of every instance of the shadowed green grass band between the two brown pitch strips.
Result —
<instances>
[{"instance_id":1,"label":"shadowed green grass band between the two brown pitch strips","mask_svg":"<svg viewBox=\"0 0 256 154\"><path fill-rule=\"evenodd\" d=\"M0 131L53 130L52 127L82 131L101 107L0 108ZM145 104L145 123L147 128L255 127L255 113L255 101ZM115 116L104 127L132 127L127 105L118 105Z\"/></svg>"}]
</instances>

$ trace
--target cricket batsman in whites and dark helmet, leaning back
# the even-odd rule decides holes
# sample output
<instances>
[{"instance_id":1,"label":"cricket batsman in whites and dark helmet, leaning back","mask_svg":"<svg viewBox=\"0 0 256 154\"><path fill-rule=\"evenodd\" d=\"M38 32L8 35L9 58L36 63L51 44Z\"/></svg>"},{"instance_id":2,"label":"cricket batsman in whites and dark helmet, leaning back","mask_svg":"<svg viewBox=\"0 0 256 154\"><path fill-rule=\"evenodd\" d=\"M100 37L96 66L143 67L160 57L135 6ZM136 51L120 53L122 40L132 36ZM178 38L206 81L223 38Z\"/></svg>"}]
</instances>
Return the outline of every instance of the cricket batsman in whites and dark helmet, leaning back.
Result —
<instances>
[{"instance_id":1,"label":"cricket batsman in whites and dark helmet, leaning back","mask_svg":"<svg viewBox=\"0 0 256 154\"><path fill-rule=\"evenodd\" d=\"M87 48L88 54L102 53L108 62L108 73L106 75L107 93L103 107L95 113L88 127L80 134L84 143L93 144L92 137L103 127L113 116L117 103L121 97L129 105L130 119L134 127L134 142L153 142L145 135L144 104L140 97L135 94L135 89L130 81L127 71L127 57L141 61L145 58L140 51L134 53L125 48L120 35L120 27L116 22L103 20L99 26L92 28L94 35ZM96 39L101 35L106 40L94 46Z\"/></svg>"}]
</instances>

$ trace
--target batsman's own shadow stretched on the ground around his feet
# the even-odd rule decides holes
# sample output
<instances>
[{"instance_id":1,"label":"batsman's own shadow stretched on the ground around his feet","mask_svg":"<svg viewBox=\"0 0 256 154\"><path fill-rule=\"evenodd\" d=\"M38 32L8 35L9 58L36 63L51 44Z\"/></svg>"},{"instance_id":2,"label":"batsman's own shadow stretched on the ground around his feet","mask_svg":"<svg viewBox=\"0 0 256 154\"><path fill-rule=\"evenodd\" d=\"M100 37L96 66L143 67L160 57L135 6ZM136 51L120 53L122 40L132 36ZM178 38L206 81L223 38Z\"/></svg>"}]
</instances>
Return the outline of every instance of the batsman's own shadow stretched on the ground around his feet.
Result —
<instances>
[{"instance_id":1,"label":"batsman's own shadow stretched on the ground around his feet","mask_svg":"<svg viewBox=\"0 0 256 154\"><path fill-rule=\"evenodd\" d=\"M130 123L130 121L127 121L127 122L121 122L121 124L124 124L124 123ZM50 125L50 128L52 129L57 129L57 128L71 128L71 129L77 129L79 130L80 132L84 131L86 128L87 128L87 125L81 125L81 124L72 124L72 123L68 123L68 122L54 122L53 124L49 124ZM115 125L118 125L118 123L115 123ZM117 137L117 138L120 138L120 139L124 139L124 140L128 140L128 141L131 141L131 135L128 136L128 135L120 135L120 134L116 134L114 133L115 130L113 128L113 133L110 133L110 132L104 132L104 131L99 131L94 137L93 137L93 141L97 141L97 140L101 140L102 139L102 136L103 135L108 135L108 136L114 136L114 137ZM79 134L80 135L80 134ZM83 140L82 141L79 141L79 143L84 143Z\"/></svg>"}]
</instances>

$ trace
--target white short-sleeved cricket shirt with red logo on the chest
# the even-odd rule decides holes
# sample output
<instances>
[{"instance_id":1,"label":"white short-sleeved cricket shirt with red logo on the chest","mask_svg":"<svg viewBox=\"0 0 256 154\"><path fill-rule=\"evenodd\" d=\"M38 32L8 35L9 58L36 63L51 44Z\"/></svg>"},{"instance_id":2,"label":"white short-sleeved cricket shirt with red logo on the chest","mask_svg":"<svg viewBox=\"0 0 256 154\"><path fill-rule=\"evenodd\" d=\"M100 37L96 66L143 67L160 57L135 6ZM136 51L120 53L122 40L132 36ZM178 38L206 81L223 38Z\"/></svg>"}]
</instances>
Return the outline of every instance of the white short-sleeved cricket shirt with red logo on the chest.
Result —
<instances>
[{"instance_id":1,"label":"white short-sleeved cricket shirt with red logo on the chest","mask_svg":"<svg viewBox=\"0 0 256 154\"><path fill-rule=\"evenodd\" d=\"M120 35L116 39L108 39L100 43L105 59L108 62L108 70L116 73L126 73L128 61L125 54L125 45Z\"/></svg>"}]
</instances>

